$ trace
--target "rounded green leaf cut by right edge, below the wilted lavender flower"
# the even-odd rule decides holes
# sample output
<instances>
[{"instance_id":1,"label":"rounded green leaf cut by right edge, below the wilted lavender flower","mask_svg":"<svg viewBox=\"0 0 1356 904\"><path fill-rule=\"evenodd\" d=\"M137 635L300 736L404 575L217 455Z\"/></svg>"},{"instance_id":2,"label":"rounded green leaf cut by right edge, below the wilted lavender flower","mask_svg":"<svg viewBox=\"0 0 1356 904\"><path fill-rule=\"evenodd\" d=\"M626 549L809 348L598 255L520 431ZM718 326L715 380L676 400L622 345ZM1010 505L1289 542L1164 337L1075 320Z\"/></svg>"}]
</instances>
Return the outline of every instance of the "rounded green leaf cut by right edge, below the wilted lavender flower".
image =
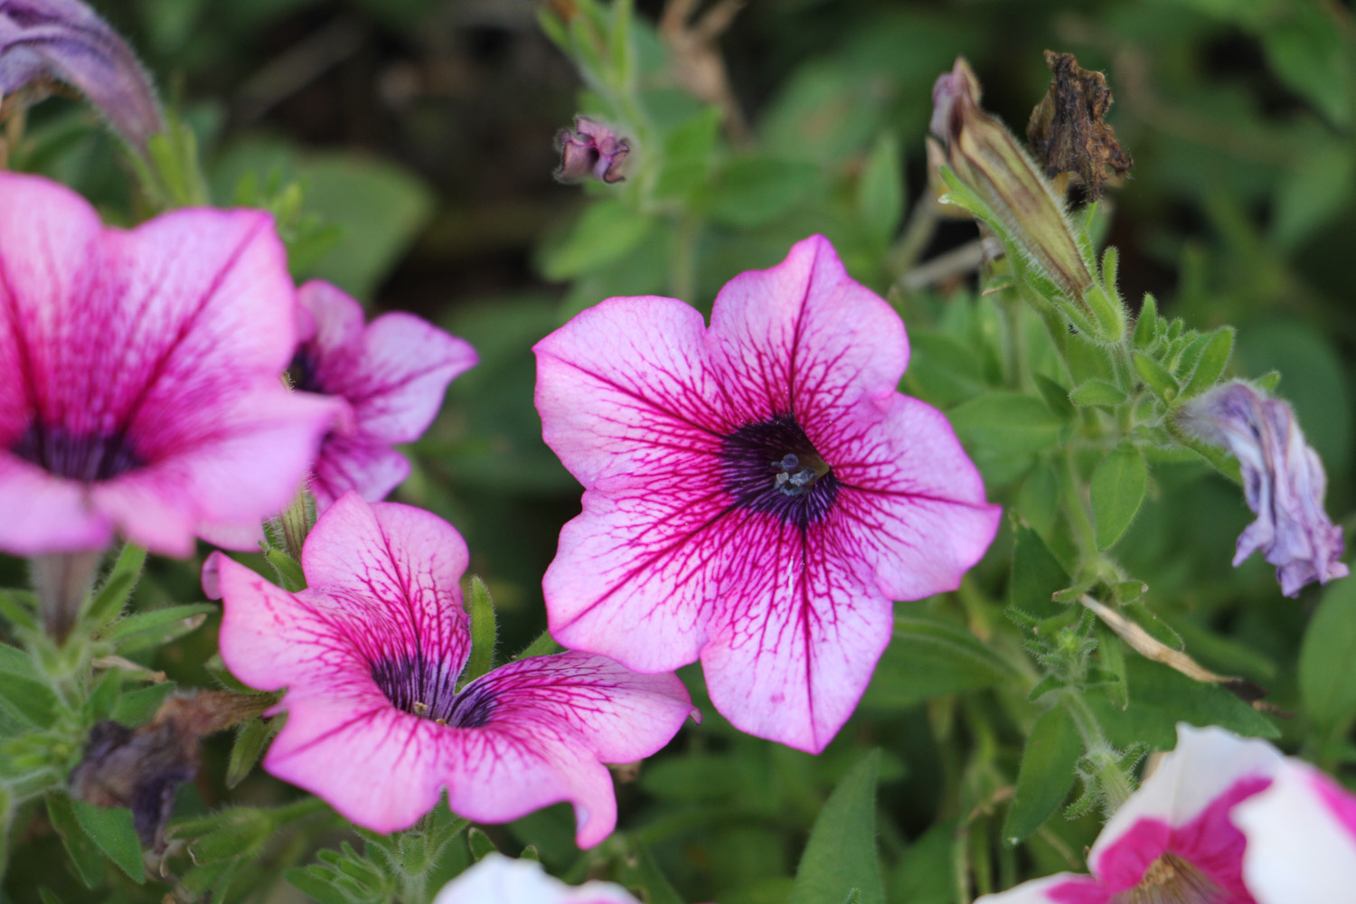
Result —
<instances>
[{"instance_id":1,"label":"rounded green leaf cut by right edge, below the wilted lavender flower","mask_svg":"<svg viewBox=\"0 0 1356 904\"><path fill-rule=\"evenodd\" d=\"M1356 581L1323 590L1299 649L1299 691L1304 713L1328 733L1356 717Z\"/></svg>"}]
</instances>

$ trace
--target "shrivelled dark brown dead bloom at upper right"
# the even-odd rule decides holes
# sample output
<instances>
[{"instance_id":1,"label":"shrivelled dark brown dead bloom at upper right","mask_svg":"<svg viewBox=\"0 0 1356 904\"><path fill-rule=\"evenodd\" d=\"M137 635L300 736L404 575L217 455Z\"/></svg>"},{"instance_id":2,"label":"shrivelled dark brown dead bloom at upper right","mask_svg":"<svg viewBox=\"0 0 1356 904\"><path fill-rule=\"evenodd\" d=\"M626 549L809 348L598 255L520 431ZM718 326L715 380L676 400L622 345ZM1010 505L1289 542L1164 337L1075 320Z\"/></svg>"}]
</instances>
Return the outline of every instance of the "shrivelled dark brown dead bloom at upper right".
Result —
<instances>
[{"instance_id":1,"label":"shrivelled dark brown dead bloom at upper right","mask_svg":"<svg viewBox=\"0 0 1356 904\"><path fill-rule=\"evenodd\" d=\"M1055 77L1031 114L1026 141L1047 176L1077 173L1089 201L1096 201L1102 183L1112 173L1128 172L1134 163L1116 142L1116 130L1104 122L1111 110L1106 76L1081 68L1071 53L1047 50L1045 65Z\"/></svg>"}]
</instances>

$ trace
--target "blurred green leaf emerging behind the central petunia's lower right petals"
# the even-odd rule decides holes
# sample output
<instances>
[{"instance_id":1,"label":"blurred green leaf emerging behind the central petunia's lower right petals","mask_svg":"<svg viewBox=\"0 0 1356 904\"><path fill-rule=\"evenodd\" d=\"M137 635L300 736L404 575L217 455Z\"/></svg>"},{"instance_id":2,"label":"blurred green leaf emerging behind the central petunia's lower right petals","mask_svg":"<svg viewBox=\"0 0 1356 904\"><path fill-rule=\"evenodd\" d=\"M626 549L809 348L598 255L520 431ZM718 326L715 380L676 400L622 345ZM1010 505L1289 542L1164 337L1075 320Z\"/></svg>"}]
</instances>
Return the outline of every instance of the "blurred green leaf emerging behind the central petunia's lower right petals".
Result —
<instances>
[{"instance_id":1,"label":"blurred green leaf emerging behind the central petunia's lower right petals","mask_svg":"<svg viewBox=\"0 0 1356 904\"><path fill-rule=\"evenodd\" d=\"M898 712L1012 679L1008 664L963 628L926 615L896 615L895 638L876 664L861 707Z\"/></svg>"}]
</instances>

